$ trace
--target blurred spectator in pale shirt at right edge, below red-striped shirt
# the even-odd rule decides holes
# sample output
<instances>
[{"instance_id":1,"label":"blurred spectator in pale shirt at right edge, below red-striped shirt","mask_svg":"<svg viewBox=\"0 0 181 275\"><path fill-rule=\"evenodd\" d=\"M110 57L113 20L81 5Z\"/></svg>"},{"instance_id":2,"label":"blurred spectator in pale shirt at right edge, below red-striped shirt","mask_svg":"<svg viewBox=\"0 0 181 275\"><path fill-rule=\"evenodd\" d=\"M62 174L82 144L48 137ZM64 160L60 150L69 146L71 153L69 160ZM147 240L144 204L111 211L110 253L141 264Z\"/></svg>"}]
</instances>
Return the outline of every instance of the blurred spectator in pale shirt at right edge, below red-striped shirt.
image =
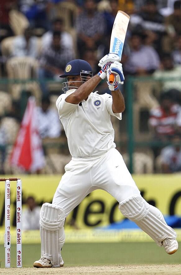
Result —
<instances>
[{"instance_id":1,"label":"blurred spectator in pale shirt at right edge, below red-striped shirt","mask_svg":"<svg viewBox=\"0 0 181 275\"><path fill-rule=\"evenodd\" d=\"M172 145L161 150L163 173L181 172L181 137L176 134L171 139Z\"/></svg>"}]
</instances>

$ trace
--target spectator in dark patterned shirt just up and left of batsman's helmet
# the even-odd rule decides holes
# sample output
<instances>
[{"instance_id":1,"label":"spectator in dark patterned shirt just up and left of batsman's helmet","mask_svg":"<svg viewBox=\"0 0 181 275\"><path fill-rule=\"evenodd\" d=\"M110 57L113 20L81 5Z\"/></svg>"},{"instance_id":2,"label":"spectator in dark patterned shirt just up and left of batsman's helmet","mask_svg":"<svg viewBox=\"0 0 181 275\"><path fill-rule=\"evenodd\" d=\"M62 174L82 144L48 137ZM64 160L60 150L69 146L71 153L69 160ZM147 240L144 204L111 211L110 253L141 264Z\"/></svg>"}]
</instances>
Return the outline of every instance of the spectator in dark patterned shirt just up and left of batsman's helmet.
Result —
<instances>
[{"instance_id":1,"label":"spectator in dark patterned shirt just up and left of batsman's helmet","mask_svg":"<svg viewBox=\"0 0 181 275\"><path fill-rule=\"evenodd\" d=\"M49 91L44 83L45 78L60 80L65 65L72 60L66 48L60 45L60 32L53 32L53 40L49 47L44 49L40 57L39 80L43 95L48 95Z\"/></svg>"}]
</instances>

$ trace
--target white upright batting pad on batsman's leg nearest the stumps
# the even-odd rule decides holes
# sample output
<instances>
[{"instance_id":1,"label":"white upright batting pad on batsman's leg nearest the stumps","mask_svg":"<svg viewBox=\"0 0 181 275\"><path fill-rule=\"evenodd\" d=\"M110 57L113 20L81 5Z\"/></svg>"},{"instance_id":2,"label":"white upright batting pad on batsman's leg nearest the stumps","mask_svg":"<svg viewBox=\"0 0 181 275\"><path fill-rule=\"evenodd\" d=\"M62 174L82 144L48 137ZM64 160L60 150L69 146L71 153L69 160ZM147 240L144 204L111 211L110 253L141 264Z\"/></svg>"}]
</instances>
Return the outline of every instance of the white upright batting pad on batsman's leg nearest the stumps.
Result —
<instances>
[{"instance_id":1,"label":"white upright batting pad on batsman's leg nearest the stumps","mask_svg":"<svg viewBox=\"0 0 181 275\"><path fill-rule=\"evenodd\" d=\"M51 260L53 267L60 266L60 251L65 242L65 212L62 208L44 203L40 210L41 257Z\"/></svg>"}]
</instances>

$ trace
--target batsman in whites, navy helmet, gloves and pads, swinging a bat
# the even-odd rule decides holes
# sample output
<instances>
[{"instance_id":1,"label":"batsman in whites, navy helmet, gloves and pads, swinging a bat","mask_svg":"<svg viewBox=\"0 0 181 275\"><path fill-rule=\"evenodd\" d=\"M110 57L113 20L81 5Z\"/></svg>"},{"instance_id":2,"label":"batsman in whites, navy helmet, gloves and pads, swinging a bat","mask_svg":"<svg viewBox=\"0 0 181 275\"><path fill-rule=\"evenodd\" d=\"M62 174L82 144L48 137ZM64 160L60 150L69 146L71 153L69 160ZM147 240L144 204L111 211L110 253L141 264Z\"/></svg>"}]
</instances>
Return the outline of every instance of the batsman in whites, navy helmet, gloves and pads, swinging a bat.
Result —
<instances>
[{"instance_id":1,"label":"batsman in whites, navy helmet, gloves and pads, swinging a bat","mask_svg":"<svg viewBox=\"0 0 181 275\"><path fill-rule=\"evenodd\" d=\"M64 222L67 215L92 191L102 189L119 202L119 210L134 221L168 254L178 249L175 231L169 227L156 207L140 195L121 154L114 143L110 116L122 119L124 98L118 88L123 84L122 64L116 54L105 55L100 72L92 76L92 68L84 60L72 60L61 78L64 94L56 106L65 129L72 160L57 187L52 204L44 203L40 211L41 258L36 268L61 267L61 249L65 241ZM113 84L109 75L114 74ZM107 78L112 95L99 95L96 86Z\"/></svg>"}]
</instances>

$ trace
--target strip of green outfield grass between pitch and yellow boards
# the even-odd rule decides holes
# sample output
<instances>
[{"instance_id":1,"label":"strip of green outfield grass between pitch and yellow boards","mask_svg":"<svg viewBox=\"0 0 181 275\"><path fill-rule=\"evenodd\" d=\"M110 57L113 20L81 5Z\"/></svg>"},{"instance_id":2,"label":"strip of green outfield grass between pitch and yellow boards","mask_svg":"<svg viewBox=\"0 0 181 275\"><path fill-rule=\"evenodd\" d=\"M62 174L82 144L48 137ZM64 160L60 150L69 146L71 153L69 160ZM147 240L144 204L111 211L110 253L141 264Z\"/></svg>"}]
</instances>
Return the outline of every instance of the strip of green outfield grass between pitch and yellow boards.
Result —
<instances>
[{"instance_id":1,"label":"strip of green outfield grass between pitch and yellow boards","mask_svg":"<svg viewBox=\"0 0 181 275\"><path fill-rule=\"evenodd\" d=\"M181 242L179 243L181 246ZM106 264L180 264L181 253L168 255L153 242L65 243L62 250L65 266ZM40 258L39 244L22 246L23 267L32 267ZM4 267L4 246L0 245L1 268ZM16 266L16 245L11 246L11 266Z\"/></svg>"}]
</instances>

